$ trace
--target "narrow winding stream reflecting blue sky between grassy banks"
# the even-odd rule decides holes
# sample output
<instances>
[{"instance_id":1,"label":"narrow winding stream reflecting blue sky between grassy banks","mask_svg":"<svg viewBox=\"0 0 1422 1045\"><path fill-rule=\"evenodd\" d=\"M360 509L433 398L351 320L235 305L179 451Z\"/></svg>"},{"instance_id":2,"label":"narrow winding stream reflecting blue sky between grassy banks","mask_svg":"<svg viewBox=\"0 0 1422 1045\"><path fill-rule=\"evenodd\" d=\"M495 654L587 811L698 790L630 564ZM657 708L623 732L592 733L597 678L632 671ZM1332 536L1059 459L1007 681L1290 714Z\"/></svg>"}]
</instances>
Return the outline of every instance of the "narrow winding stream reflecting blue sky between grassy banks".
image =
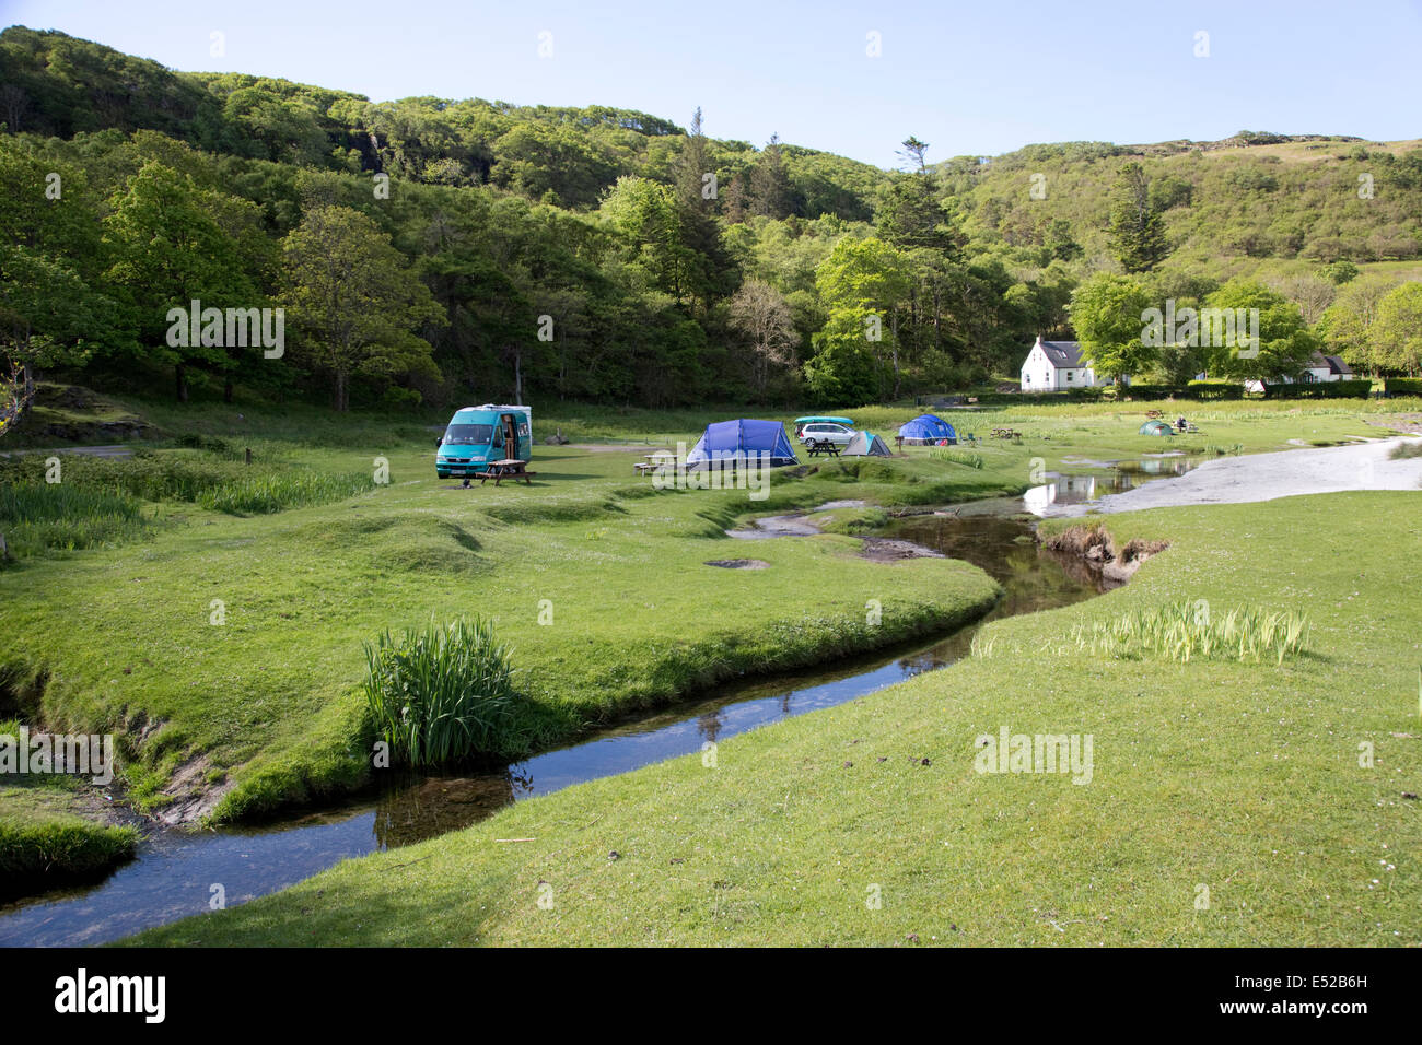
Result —
<instances>
[{"instance_id":1,"label":"narrow winding stream reflecting blue sky between grassy banks","mask_svg":"<svg viewBox=\"0 0 1422 1045\"><path fill-rule=\"evenodd\" d=\"M1155 465L1152 465L1155 468ZM1179 473L1170 462L1160 473ZM1183 466L1182 466L1183 471ZM875 536L907 540L964 559L1004 587L1001 601L977 624L930 644L879 653L813 671L718 688L593 739L549 751L496 772L421 776L377 798L286 819L267 827L209 832L146 829L138 857L87 889L63 890L0 906L0 945L81 945L117 940L209 909L220 883L229 907L286 889L340 860L405 846L493 815L533 795L629 772L700 751L808 711L829 708L933 671L966 655L981 624L1089 599L1101 587L1086 566L1037 546L1024 506L1091 499L1153 475L1121 469L1113 478L1054 476L1025 498L977 502L950 512L900 519ZM1088 483L1086 479L1091 479ZM1102 483L1102 485L1098 485ZM769 535L766 535L769 536Z\"/></svg>"}]
</instances>

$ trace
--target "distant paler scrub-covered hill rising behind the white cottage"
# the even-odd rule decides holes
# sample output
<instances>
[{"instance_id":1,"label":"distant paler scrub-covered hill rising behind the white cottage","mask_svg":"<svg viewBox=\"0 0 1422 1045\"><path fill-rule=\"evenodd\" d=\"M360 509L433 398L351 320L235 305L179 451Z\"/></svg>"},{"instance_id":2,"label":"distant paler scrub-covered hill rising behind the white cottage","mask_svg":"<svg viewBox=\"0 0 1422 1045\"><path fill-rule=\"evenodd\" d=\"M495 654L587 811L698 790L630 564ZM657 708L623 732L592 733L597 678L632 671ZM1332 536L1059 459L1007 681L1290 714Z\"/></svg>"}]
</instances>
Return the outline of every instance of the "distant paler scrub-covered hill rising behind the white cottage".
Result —
<instances>
[{"instance_id":1,"label":"distant paler scrub-covered hill rising behind the white cottage","mask_svg":"<svg viewBox=\"0 0 1422 1045\"><path fill-rule=\"evenodd\" d=\"M1030 145L934 169L970 200L974 240L1051 247L1065 222L1088 253L1109 254L1112 183L1129 162L1150 178L1177 263L1422 254L1422 141L1243 131L1221 142ZM1034 185L1045 199L1031 195Z\"/></svg>"}]
</instances>

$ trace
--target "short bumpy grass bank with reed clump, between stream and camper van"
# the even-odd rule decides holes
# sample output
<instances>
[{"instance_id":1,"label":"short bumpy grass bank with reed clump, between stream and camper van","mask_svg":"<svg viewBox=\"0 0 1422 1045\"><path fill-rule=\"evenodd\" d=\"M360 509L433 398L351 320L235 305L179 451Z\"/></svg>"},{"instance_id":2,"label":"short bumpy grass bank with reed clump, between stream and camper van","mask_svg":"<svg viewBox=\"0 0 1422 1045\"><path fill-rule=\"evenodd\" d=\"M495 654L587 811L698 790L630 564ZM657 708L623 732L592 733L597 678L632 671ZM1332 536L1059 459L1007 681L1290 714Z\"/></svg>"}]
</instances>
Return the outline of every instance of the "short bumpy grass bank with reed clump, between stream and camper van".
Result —
<instances>
[{"instance_id":1,"label":"short bumpy grass bank with reed clump, between stream and camper van","mask_svg":"<svg viewBox=\"0 0 1422 1045\"><path fill-rule=\"evenodd\" d=\"M164 502L146 540L11 564L0 664L13 700L51 728L119 734L139 803L176 798L196 803L188 819L226 819L367 779L356 687L363 643L385 628L491 620L519 697L493 754L516 755L727 678L951 628L997 593L963 563L870 563L835 536L758 545L771 569L754 576L707 566L744 553L722 529L748 509L808 506L846 483L887 499L958 489L913 462L776 478L751 502L658 493L617 452L540 449L535 486L459 489L429 473L424 446L381 449L307 451L306 468L336 475L388 455L390 485L354 498L246 518ZM963 489L998 486L973 473Z\"/></svg>"}]
</instances>

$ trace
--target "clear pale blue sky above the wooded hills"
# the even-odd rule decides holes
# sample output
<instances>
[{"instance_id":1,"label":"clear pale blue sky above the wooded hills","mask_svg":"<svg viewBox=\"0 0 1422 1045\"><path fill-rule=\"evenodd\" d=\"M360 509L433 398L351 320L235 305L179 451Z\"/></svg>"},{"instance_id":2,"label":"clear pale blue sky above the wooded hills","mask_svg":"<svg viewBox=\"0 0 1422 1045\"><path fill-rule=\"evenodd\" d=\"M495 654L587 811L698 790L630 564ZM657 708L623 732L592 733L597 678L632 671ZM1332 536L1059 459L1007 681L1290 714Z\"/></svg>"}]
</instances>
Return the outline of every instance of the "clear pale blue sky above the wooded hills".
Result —
<instances>
[{"instance_id":1,"label":"clear pale blue sky above the wooded hills","mask_svg":"<svg viewBox=\"0 0 1422 1045\"><path fill-rule=\"evenodd\" d=\"M762 145L880 166L1030 142L1216 139L1240 129L1422 135L1422 4L479 3L0 0L0 24L58 28L179 70L519 104L617 105ZM212 54L212 33L225 54ZM1196 57L1196 34L1207 57ZM550 33L552 55L539 55ZM879 57L869 34L877 33Z\"/></svg>"}]
</instances>

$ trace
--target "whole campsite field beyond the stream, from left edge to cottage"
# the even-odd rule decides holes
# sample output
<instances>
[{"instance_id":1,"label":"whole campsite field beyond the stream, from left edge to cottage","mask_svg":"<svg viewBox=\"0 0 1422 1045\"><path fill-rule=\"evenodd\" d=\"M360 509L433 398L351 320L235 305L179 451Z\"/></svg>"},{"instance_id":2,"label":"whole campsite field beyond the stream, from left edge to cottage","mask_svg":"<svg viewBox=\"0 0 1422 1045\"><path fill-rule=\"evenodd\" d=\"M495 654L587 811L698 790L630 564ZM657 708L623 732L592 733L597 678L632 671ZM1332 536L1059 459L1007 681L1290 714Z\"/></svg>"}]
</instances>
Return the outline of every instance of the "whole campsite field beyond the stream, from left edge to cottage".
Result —
<instances>
[{"instance_id":1,"label":"whole campsite field beyond the stream, from left edge to cottage","mask_svg":"<svg viewBox=\"0 0 1422 1045\"><path fill-rule=\"evenodd\" d=\"M1189 409L1200 435L1163 441L1136 435L1139 414L1122 407L983 411L953 415L960 432L1024 432L974 448L983 468L912 448L893 461L816 462L802 478L781 472L765 500L751 500L744 489L656 491L633 475L636 452L577 446L539 446L533 486L459 489L435 479L434 434L419 415L243 407L239 417L215 404L132 412L171 442L131 462L65 459L70 485L34 483L31 500L46 489L117 489L137 498L142 533L88 550L31 546L0 570L0 670L31 722L117 732L139 806L176 798L193 805L189 819L219 820L368 782L357 685L363 644L385 628L492 620L513 650L519 697L491 754L525 754L727 678L941 633L995 596L964 563L873 563L835 533L752 552L722 536L748 515L865 499L869 509L826 519L830 530L859 532L883 508L1012 493L1044 469L1088 466L1074 462L1335 442L1382 434L1367 422L1385 417L1371 402L1229 404ZM916 412L850 415L892 434ZM535 412L535 425L540 436L560 428L574 441L675 445L718 417L569 408ZM236 462L247 446L259 472L294 476L270 503L228 496L245 482ZM370 476L377 458L388 485L360 481L354 496L326 489ZM155 475L186 485L154 486ZM0 518L0 530L10 525ZM771 569L705 564L744 554ZM883 604L879 626L866 623L870 599Z\"/></svg>"}]
</instances>

